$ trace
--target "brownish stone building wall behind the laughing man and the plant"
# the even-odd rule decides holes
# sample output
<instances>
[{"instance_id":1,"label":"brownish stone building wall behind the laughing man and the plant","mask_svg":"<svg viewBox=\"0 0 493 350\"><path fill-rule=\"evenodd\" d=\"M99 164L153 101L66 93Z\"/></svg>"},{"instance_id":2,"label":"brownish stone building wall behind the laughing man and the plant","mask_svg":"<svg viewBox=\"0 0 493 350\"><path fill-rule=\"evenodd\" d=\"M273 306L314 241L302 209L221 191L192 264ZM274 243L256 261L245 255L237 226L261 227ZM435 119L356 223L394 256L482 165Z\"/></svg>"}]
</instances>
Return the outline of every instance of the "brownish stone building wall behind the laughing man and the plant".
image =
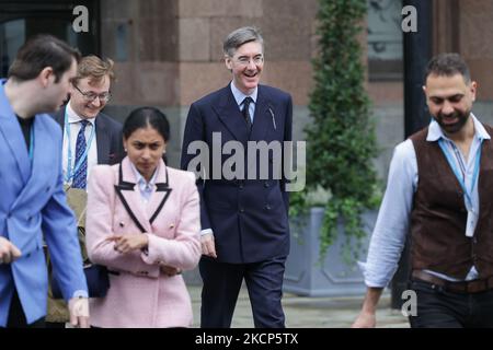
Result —
<instances>
[{"instance_id":1,"label":"brownish stone building wall behind the laughing man and the plant","mask_svg":"<svg viewBox=\"0 0 493 350\"><path fill-rule=\"evenodd\" d=\"M493 2L433 0L433 51L458 51L466 58L480 85L474 112L493 121L493 79L489 78ZM303 126L310 122L307 105L313 86L310 60L317 49L316 14L317 0L101 1L101 54L116 58L119 77L108 109L124 118L131 106L162 107L175 131L171 163L177 164L190 104L230 80L221 61L225 35L239 26L255 25L265 39L262 82L293 95L295 138L301 140ZM123 43L124 50L118 48ZM367 51L366 33L362 44ZM369 79L367 90L380 147L376 164L385 180L392 149L404 137L402 75Z\"/></svg>"}]
</instances>

